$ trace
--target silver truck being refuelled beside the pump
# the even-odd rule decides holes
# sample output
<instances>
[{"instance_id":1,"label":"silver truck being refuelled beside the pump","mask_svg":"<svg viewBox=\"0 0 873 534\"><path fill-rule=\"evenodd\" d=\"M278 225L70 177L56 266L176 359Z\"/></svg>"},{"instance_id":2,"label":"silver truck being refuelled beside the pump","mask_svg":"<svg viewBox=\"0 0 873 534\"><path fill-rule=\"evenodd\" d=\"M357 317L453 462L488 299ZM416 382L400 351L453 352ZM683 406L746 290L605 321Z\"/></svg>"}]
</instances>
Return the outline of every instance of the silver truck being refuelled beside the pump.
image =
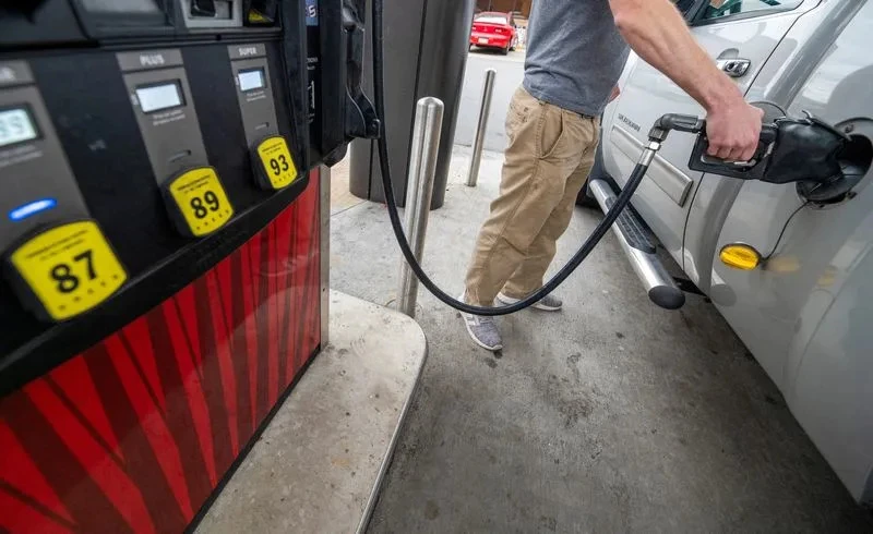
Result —
<instances>
[{"instance_id":1,"label":"silver truck being refuelled beside the pump","mask_svg":"<svg viewBox=\"0 0 873 534\"><path fill-rule=\"evenodd\" d=\"M695 136L674 132L633 197L638 227L711 299L851 495L871 506L873 1L678 5L749 102L760 102L770 119L809 111L849 135L838 158L852 187L828 197L796 183L692 171ZM633 53L620 88L602 117L598 169L579 198L594 197L601 208L626 183L658 117L705 114ZM629 245L634 235L625 234L627 228L614 224L613 231L644 286L682 286L669 276L658 279L667 272L658 254ZM748 270L722 262L722 251L740 244L760 254Z\"/></svg>"}]
</instances>

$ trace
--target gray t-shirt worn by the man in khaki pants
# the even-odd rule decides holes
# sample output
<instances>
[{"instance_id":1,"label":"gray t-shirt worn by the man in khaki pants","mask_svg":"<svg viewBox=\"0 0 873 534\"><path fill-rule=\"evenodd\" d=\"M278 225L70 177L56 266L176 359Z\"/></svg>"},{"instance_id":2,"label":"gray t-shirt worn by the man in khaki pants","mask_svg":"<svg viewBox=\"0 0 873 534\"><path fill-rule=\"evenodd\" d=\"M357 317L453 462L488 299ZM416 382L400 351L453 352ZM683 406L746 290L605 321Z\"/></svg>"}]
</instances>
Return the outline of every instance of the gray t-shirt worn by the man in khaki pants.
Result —
<instances>
[{"instance_id":1,"label":"gray t-shirt worn by the man in khaki pants","mask_svg":"<svg viewBox=\"0 0 873 534\"><path fill-rule=\"evenodd\" d=\"M590 117L603 112L630 50L608 0L536 0L526 47L525 89Z\"/></svg>"}]
</instances>

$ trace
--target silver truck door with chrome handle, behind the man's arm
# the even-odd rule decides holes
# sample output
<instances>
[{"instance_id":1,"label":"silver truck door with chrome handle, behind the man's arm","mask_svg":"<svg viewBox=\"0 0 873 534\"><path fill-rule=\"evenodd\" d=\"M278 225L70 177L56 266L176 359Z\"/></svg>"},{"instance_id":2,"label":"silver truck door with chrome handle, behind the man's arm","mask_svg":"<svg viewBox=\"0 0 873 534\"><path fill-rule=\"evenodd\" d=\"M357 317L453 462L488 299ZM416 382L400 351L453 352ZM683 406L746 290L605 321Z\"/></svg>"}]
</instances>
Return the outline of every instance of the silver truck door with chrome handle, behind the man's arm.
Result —
<instances>
[{"instance_id":1,"label":"silver truck door with chrome handle, behind the man's arm","mask_svg":"<svg viewBox=\"0 0 873 534\"><path fill-rule=\"evenodd\" d=\"M745 94L791 25L818 1L680 0L677 5L697 41ZM619 186L631 174L658 117L668 112L705 114L684 90L645 61L632 57L631 64L621 97L603 118L608 129L603 132L603 158ZM687 168L693 143L692 135L671 135L633 199L634 208L683 267L685 220L702 177Z\"/></svg>"}]
</instances>

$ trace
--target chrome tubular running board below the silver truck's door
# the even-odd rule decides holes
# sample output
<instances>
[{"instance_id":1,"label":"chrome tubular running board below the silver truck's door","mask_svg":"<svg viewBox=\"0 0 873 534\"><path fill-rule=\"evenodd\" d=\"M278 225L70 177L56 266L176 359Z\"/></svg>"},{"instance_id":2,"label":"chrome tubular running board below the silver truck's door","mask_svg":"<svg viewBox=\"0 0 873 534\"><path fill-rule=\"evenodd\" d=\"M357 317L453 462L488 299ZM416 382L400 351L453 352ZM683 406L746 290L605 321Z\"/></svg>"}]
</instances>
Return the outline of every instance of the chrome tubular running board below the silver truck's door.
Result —
<instances>
[{"instance_id":1,"label":"chrome tubular running board below the silver truck's door","mask_svg":"<svg viewBox=\"0 0 873 534\"><path fill-rule=\"evenodd\" d=\"M612 186L603 180L595 179L588 182L588 187L597 199L597 204L600 205L600 209L603 213L608 211L615 202ZM651 302L666 310L682 307L685 304L685 293L679 289L673 277L667 272L656 254L655 245L636 215L632 210L625 209L612 224L612 231Z\"/></svg>"}]
</instances>

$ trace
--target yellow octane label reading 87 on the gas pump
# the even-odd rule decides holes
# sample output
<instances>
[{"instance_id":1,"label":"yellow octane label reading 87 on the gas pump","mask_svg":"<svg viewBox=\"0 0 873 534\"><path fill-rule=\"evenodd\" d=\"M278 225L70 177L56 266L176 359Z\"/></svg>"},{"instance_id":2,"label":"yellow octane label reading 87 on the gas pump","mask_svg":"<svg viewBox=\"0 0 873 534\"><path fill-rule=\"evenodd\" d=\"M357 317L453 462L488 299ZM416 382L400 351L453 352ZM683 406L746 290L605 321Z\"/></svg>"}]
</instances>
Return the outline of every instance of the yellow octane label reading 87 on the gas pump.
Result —
<instances>
[{"instance_id":1,"label":"yellow octane label reading 87 on the gas pump","mask_svg":"<svg viewBox=\"0 0 873 534\"><path fill-rule=\"evenodd\" d=\"M96 222L68 222L31 238L12 265L53 320L75 317L107 300L128 279Z\"/></svg>"}]
</instances>

